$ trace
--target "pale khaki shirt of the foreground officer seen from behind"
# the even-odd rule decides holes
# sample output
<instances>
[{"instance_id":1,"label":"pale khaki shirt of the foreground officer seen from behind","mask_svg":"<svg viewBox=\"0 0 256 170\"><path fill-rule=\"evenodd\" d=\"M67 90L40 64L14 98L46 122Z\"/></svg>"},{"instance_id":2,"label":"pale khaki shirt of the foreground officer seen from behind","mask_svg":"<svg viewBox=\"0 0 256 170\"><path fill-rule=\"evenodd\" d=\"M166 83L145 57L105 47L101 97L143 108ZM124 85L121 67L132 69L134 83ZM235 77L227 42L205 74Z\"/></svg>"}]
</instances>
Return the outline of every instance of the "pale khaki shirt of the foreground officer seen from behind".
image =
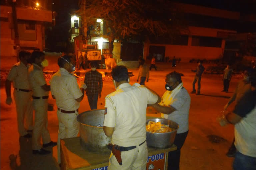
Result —
<instances>
[{"instance_id":1,"label":"pale khaki shirt of the foreground officer seen from behind","mask_svg":"<svg viewBox=\"0 0 256 170\"><path fill-rule=\"evenodd\" d=\"M112 143L119 146L136 146L146 140L146 108L158 96L144 86L121 84L105 98L103 126L115 128Z\"/></svg>"}]
</instances>

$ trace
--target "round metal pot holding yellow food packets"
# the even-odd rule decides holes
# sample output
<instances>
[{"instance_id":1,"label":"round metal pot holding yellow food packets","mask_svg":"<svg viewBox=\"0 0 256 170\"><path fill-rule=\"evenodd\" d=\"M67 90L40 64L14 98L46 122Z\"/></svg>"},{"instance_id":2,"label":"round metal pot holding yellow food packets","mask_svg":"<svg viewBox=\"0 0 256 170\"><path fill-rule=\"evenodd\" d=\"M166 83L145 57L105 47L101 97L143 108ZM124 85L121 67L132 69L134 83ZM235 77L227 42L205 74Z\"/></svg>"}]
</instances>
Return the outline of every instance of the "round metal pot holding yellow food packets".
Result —
<instances>
[{"instance_id":1,"label":"round metal pot holding yellow food packets","mask_svg":"<svg viewBox=\"0 0 256 170\"><path fill-rule=\"evenodd\" d=\"M161 124L169 125L170 128L174 128L175 130L166 133L152 133L147 131L147 145L156 148L166 148L171 146L174 142L179 125L168 119L148 119L146 123L149 121L161 122Z\"/></svg>"}]
</instances>

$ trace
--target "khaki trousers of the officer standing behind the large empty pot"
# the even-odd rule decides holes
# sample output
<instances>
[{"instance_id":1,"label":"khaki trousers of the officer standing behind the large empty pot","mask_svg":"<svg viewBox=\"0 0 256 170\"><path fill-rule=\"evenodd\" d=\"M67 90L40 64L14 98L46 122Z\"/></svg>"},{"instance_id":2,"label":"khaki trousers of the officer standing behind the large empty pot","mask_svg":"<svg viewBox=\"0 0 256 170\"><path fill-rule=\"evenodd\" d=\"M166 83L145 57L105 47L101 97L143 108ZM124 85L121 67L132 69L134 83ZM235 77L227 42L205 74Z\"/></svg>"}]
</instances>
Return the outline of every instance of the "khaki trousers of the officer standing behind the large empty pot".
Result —
<instances>
[{"instance_id":1,"label":"khaki trousers of the officer standing behind the large empty pot","mask_svg":"<svg viewBox=\"0 0 256 170\"><path fill-rule=\"evenodd\" d=\"M59 120L59 131L58 131L58 162L60 160L60 139L76 137L79 132L79 122L76 120L78 112L75 113L62 113L57 110L57 116Z\"/></svg>"}]
</instances>

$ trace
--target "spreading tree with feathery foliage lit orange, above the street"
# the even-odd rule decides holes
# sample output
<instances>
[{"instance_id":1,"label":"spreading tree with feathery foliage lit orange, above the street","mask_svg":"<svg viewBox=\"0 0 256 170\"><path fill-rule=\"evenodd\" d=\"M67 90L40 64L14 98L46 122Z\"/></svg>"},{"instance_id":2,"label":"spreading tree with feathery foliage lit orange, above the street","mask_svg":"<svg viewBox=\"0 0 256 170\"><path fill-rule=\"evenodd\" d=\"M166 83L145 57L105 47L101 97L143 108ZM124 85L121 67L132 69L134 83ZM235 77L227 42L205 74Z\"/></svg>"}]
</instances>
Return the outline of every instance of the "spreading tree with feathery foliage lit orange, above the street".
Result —
<instances>
[{"instance_id":1,"label":"spreading tree with feathery foliage lit orange, above the street","mask_svg":"<svg viewBox=\"0 0 256 170\"><path fill-rule=\"evenodd\" d=\"M85 25L95 18L106 21L111 54L115 38L171 37L185 28L179 19L181 15L170 0L79 0L79 4L78 13L87 18Z\"/></svg>"}]
</instances>

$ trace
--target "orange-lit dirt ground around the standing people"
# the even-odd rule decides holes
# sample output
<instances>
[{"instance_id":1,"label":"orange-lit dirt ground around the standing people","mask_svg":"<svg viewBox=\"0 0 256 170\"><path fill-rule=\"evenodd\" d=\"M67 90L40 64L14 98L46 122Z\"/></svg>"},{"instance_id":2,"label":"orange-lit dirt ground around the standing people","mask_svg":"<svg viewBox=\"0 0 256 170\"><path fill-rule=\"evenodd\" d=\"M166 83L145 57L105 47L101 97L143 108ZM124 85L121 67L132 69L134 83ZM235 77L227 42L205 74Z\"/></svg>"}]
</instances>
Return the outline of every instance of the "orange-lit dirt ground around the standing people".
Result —
<instances>
[{"instance_id":1,"label":"orange-lit dirt ground around the standing people","mask_svg":"<svg viewBox=\"0 0 256 170\"><path fill-rule=\"evenodd\" d=\"M49 69L58 69L56 63L49 62ZM190 93L196 63L177 63L175 69L170 64L157 63L158 70L150 71L148 87L155 90L160 96L165 92L165 75L171 71L183 73L184 87ZM100 70L104 71L104 70ZM137 80L138 69L129 69L135 76L131 77L131 84ZM201 95L191 94L189 113L189 133L181 150L181 170L231 170L233 158L225 154L233 140L234 127L220 127L216 117L222 111L235 90L241 76L233 76L230 83L230 92L224 93L221 75L204 74L201 80ZM3 83L1 83L3 84ZM196 85L197 87L197 85ZM102 97L98 100L98 109L104 108L104 97L115 90L112 81L103 82ZM1 85L1 170L57 170L57 147L53 147L52 155L32 155L31 140L19 138L15 103L11 106L5 104L5 87ZM58 120L56 104L49 98L49 103L54 104L54 111L48 112L48 129L53 141L57 140ZM230 106L230 109L232 105ZM81 102L79 113L89 110L88 100L85 97ZM160 116L152 108L147 108L147 116ZM216 136L212 136L216 135ZM219 138L220 137L220 138ZM17 156L17 157L16 157ZM15 162L16 159L16 162Z\"/></svg>"}]
</instances>

